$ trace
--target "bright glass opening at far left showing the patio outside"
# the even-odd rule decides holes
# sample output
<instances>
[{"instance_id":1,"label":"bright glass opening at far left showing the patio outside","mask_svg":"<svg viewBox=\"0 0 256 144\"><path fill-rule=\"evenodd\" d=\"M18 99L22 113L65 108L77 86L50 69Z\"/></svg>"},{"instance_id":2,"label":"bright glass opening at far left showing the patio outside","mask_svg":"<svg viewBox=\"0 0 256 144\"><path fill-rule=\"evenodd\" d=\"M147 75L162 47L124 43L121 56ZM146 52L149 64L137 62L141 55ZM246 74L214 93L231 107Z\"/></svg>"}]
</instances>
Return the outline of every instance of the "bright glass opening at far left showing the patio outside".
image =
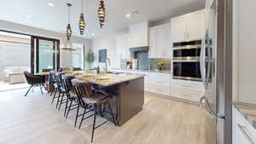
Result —
<instances>
[{"instance_id":1,"label":"bright glass opening at far left showing the patio outside","mask_svg":"<svg viewBox=\"0 0 256 144\"><path fill-rule=\"evenodd\" d=\"M0 84L25 83L24 71L31 71L31 37L0 32Z\"/></svg>"}]
</instances>

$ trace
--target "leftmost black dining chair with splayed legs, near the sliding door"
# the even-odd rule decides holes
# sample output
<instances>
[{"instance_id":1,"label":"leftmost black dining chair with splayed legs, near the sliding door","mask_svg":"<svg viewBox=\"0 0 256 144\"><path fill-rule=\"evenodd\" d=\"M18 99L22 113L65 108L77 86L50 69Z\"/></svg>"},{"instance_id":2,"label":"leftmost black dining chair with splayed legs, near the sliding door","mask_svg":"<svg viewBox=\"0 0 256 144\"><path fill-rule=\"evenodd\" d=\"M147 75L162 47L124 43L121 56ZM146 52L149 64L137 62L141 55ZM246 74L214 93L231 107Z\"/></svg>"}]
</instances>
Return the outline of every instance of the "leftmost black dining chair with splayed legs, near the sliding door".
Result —
<instances>
[{"instance_id":1,"label":"leftmost black dining chair with splayed legs, near the sliding door","mask_svg":"<svg viewBox=\"0 0 256 144\"><path fill-rule=\"evenodd\" d=\"M40 87L41 93L42 93L42 95L44 95L43 88L46 89L44 87L45 77L44 76L39 76L39 75L33 75L30 72L24 72L24 75L25 75L25 78L26 78L26 83L31 85L30 88L26 91L26 94L24 96L26 96L28 94L30 89L32 89L32 88L34 89L35 87Z\"/></svg>"}]
</instances>

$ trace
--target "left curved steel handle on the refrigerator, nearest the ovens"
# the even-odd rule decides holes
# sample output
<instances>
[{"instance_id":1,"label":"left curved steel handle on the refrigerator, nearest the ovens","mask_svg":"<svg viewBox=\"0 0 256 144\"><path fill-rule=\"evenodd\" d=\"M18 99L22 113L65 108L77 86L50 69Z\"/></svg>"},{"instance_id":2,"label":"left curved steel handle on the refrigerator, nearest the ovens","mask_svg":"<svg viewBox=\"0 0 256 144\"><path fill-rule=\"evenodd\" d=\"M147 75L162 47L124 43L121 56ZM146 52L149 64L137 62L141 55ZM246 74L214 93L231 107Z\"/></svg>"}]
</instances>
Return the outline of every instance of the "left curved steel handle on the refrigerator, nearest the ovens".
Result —
<instances>
[{"instance_id":1,"label":"left curved steel handle on the refrigerator, nearest the ovens","mask_svg":"<svg viewBox=\"0 0 256 144\"><path fill-rule=\"evenodd\" d=\"M201 70L201 80L203 82L203 85L205 87L205 89L207 89L206 87L206 79L205 79L205 52L206 49L206 35L204 36L204 38L201 41L201 55L200 55L200 70Z\"/></svg>"}]
</instances>

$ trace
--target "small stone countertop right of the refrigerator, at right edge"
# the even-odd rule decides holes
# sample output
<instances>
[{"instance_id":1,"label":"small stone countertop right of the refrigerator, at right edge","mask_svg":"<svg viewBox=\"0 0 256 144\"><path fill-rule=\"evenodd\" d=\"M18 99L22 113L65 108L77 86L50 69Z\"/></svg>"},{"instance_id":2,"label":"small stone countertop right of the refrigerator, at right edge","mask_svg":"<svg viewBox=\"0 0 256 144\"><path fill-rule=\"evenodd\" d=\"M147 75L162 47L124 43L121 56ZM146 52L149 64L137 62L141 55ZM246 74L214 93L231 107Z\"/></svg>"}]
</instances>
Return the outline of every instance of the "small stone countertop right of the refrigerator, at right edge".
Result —
<instances>
[{"instance_id":1,"label":"small stone countertop right of the refrigerator, at right edge","mask_svg":"<svg viewBox=\"0 0 256 144\"><path fill-rule=\"evenodd\" d=\"M239 112L241 112L241 115L244 116L250 124L253 124L253 127L256 129L256 105L238 101L233 102L233 105Z\"/></svg>"}]
</instances>

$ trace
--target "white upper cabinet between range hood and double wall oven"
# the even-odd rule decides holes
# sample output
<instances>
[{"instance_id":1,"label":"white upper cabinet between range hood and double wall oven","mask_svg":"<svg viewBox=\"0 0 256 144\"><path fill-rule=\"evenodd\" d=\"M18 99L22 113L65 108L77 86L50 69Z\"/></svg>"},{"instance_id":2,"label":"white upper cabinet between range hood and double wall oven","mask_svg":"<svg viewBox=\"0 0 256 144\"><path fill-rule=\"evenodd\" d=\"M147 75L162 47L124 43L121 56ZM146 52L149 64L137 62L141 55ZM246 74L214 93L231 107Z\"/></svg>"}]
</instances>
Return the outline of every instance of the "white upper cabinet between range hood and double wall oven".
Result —
<instances>
[{"instance_id":1,"label":"white upper cabinet between range hood and double wall oven","mask_svg":"<svg viewBox=\"0 0 256 144\"><path fill-rule=\"evenodd\" d=\"M171 58L171 24L154 26L149 33L149 58Z\"/></svg>"}]
</instances>

